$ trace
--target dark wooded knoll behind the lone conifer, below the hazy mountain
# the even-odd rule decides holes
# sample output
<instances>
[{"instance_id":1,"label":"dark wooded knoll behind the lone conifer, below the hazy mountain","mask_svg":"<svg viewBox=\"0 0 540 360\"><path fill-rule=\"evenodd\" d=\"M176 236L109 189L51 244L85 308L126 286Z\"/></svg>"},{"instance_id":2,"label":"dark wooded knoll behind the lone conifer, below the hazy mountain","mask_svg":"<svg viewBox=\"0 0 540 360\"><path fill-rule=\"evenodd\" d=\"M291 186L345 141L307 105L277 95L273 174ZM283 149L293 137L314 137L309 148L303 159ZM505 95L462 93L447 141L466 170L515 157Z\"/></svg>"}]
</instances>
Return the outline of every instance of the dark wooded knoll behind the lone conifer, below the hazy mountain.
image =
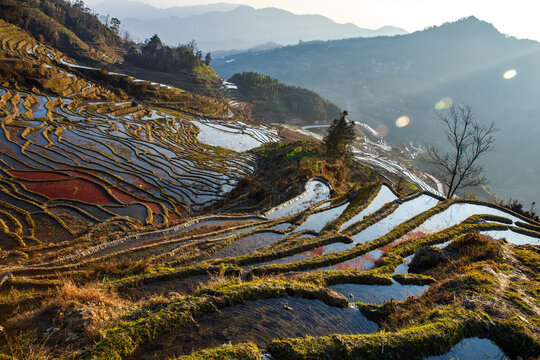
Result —
<instances>
[{"instance_id":1,"label":"dark wooded knoll behind the lone conifer, below the hazy mountain","mask_svg":"<svg viewBox=\"0 0 540 360\"><path fill-rule=\"evenodd\" d=\"M313 91L289 86L278 80L255 72L243 72L232 76L241 93L251 100L276 101L285 111L308 122L328 121L341 110Z\"/></svg>"}]
</instances>

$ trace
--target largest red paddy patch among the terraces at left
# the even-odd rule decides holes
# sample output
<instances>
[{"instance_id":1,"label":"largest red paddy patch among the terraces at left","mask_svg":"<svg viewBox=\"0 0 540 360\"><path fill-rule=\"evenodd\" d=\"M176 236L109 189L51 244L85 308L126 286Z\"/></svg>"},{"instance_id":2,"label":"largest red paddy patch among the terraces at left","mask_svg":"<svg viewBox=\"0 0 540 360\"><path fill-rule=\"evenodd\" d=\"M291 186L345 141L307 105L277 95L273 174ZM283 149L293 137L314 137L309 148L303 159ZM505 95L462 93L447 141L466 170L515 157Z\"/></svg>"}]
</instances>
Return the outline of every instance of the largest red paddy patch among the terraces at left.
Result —
<instances>
[{"instance_id":1,"label":"largest red paddy patch among the terraces at left","mask_svg":"<svg viewBox=\"0 0 540 360\"><path fill-rule=\"evenodd\" d=\"M73 199L92 204L118 204L101 186L86 179L21 181L31 191L49 199Z\"/></svg>"}]
</instances>

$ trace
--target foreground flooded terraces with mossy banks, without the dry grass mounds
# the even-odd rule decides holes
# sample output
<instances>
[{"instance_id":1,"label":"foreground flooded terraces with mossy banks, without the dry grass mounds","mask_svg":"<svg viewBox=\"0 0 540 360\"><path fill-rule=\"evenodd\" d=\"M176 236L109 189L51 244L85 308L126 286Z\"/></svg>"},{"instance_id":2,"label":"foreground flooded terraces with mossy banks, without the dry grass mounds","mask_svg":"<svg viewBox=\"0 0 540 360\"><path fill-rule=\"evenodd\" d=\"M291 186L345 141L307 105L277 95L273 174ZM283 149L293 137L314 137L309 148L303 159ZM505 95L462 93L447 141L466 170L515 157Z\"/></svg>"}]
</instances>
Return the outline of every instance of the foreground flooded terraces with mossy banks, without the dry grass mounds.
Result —
<instances>
[{"instance_id":1,"label":"foreground flooded terraces with mossy banks, without the dry grass mounds","mask_svg":"<svg viewBox=\"0 0 540 360\"><path fill-rule=\"evenodd\" d=\"M48 181L58 179L63 179L61 174L54 173ZM439 280L409 273L407 266L426 246L433 251L450 249L446 256L454 256L452 251L462 245L452 244L464 241L464 234L471 231L507 234L507 241L497 243L505 251L521 251L540 241L538 224L491 204L444 200L428 193L399 198L389 185L378 183L342 200L317 197L306 206L306 197L314 199L310 184L303 196L269 211L274 214L271 219L203 216L168 229L137 232L59 261L15 266L11 286L53 287L63 274L85 273L99 264L125 259L144 260L149 268L137 275L112 277L105 282L107 287L127 299L162 296L168 300L158 307L134 310L120 328L104 329L107 337L86 349L83 358L116 354L127 359L168 359L247 342L268 349L270 353L263 351L267 358L319 358L330 351L328 339L337 336L332 334L342 334L343 341L383 334L381 324L366 312L369 306L412 304L434 296ZM276 216L280 209L288 210ZM520 235L519 242L512 234ZM179 314L185 311L191 315L184 319ZM452 321L461 326L473 318ZM139 333L141 326L144 333ZM421 354L427 358L451 351L468 358L475 352L503 354L504 349L514 356L515 351L524 351L522 347L509 350L497 336L471 329ZM126 336L137 340L124 343ZM487 336L495 343L468 339L474 336ZM311 341L323 346L300 351L303 342ZM351 346L358 348L369 344L354 341ZM470 346L470 341L479 345Z\"/></svg>"}]
</instances>

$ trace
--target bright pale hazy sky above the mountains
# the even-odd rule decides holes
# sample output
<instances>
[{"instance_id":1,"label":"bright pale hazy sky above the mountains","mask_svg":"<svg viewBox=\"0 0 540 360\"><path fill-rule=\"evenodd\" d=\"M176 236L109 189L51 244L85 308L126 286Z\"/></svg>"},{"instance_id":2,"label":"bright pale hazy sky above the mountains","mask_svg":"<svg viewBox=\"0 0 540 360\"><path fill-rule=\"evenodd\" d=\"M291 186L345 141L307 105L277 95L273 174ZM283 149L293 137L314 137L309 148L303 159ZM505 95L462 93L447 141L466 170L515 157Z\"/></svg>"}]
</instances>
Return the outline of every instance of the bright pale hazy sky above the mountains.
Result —
<instances>
[{"instance_id":1,"label":"bright pale hazy sky above the mountains","mask_svg":"<svg viewBox=\"0 0 540 360\"><path fill-rule=\"evenodd\" d=\"M86 0L89 6L102 0ZM321 14L364 28L394 25L407 31L474 15L499 31L540 41L540 0L139 0L166 8L229 2L256 8L277 7L296 14Z\"/></svg>"}]
</instances>

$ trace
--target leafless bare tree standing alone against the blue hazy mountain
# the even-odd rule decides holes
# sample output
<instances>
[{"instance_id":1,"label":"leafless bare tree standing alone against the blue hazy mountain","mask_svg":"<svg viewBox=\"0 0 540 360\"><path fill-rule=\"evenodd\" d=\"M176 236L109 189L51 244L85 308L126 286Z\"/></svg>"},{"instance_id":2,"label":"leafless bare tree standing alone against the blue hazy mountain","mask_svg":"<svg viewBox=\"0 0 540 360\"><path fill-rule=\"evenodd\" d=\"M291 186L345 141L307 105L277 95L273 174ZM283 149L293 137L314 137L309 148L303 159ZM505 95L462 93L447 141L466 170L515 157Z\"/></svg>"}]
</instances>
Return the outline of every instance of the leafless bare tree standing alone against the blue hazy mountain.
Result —
<instances>
[{"instance_id":1,"label":"leafless bare tree standing alone against the blue hazy mountain","mask_svg":"<svg viewBox=\"0 0 540 360\"><path fill-rule=\"evenodd\" d=\"M426 144L428 161L436 168L436 175L448 188L447 198L468 186L487 184L484 169L478 158L493 150L494 123L479 124L469 105L452 105L447 113L437 113L445 125L444 133L451 150L444 153L433 144Z\"/></svg>"}]
</instances>

